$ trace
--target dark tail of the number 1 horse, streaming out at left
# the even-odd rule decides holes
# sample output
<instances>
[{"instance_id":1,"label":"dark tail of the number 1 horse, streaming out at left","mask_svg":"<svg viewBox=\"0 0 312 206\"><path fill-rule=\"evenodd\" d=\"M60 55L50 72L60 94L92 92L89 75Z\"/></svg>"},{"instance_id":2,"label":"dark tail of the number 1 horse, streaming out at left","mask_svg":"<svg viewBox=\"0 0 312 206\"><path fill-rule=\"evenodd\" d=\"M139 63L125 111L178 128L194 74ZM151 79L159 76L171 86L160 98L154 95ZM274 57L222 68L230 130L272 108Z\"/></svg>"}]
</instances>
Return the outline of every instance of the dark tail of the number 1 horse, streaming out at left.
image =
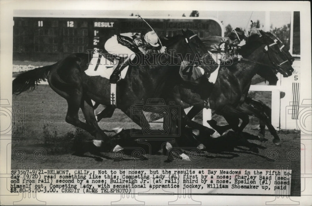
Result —
<instances>
[{"instance_id":1,"label":"dark tail of the number 1 horse, streaming out at left","mask_svg":"<svg viewBox=\"0 0 312 206\"><path fill-rule=\"evenodd\" d=\"M34 90L40 81L47 79L52 66L53 65L39 67L17 75L12 82L12 93L20 94L29 89Z\"/></svg>"}]
</instances>

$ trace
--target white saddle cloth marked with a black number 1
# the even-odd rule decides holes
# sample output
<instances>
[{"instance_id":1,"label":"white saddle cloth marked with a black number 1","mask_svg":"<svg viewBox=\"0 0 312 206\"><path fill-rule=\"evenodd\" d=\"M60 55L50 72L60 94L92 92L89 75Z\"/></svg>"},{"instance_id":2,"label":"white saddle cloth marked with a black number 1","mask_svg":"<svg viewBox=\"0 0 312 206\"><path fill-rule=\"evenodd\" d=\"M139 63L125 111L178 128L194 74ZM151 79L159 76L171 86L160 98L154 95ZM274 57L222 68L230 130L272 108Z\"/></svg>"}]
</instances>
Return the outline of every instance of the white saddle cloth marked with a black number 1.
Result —
<instances>
[{"instance_id":1,"label":"white saddle cloth marked with a black number 1","mask_svg":"<svg viewBox=\"0 0 312 206\"><path fill-rule=\"evenodd\" d=\"M118 60L109 60L105 58L104 55L100 53L93 54L89 67L85 70L86 75L88 76L101 76L106 79L110 79L110 75L113 73L114 69L118 65ZM124 79L128 71L129 66L126 66L120 73L120 77Z\"/></svg>"}]
</instances>

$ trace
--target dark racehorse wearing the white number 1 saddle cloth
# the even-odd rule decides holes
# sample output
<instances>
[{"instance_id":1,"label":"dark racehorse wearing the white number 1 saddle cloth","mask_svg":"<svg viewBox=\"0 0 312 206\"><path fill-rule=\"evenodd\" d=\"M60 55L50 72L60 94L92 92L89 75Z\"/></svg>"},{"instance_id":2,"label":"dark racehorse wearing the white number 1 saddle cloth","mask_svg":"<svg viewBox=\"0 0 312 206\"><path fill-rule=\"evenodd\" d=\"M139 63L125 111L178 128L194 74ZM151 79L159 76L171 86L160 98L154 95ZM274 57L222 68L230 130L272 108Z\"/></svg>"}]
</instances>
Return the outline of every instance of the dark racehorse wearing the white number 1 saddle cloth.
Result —
<instances>
[{"instance_id":1,"label":"dark racehorse wearing the white number 1 saddle cloth","mask_svg":"<svg viewBox=\"0 0 312 206\"><path fill-rule=\"evenodd\" d=\"M191 54L190 59L199 57L199 60L202 61L206 54L206 49L203 47L199 37L190 30L182 30L182 32L183 35L176 36L173 44L167 47L167 49L175 50L183 56ZM87 76L85 74L84 71L88 68L91 55L74 53L53 65L23 72L13 80L12 92L13 94L20 94L30 88L34 89L39 81L47 80L52 90L65 98L68 103L65 119L67 123L80 127L93 135L95 146L102 147L107 151L112 148L115 149L113 151L121 150L122 147L116 145L100 129L95 118L95 107L91 100L110 108L111 94L108 79L100 76ZM117 108L122 110L139 126L141 126L142 115L131 113L131 106L136 101L144 101L146 104L149 98L155 98L158 94L163 93L163 90L166 89L164 81L180 81L178 77L180 66L164 64L164 62L169 62L172 57L161 54L158 57L154 65L143 65L140 62L136 66L129 66L124 80L117 84ZM85 122L79 120L79 109L83 112ZM170 134L176 133L177 128L175 124L175 120L171 120ZM103 142L105 145L102 144ZM180 154L182 153L181 150L179 152ZM188 159L185 155L183 158Z\"/></svg>"}]
</instances>

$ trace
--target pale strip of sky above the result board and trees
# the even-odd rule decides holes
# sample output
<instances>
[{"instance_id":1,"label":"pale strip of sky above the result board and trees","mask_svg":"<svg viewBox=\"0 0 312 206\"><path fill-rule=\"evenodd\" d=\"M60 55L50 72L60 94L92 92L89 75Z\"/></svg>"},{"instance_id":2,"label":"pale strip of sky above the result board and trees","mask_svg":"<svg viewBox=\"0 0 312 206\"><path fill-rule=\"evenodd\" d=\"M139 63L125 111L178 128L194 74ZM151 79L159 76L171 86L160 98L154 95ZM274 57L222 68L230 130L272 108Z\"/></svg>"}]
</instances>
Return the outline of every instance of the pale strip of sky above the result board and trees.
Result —
<instances>
[{"instance_id":1,"label":"pale strip of sky above the result board and trees","mask_svg":"<svg viewBox=\"0 0 312 206\"><path fill-rule=\"evenodd\" d=\"M134 15L139 14L142 17L182 17L189 16L192 11L144 11L144 10L14 10L14 15L78 15L78 16L129 16L131 13ZM291 12L270 12L270 21L274 27L282 27L290 23ZM249 28L250 21L256 22L260 20L260 24L265 22L265 12L261 11L199 11L199 17L214 17L223 21L223 26L231 24L233 28Z\"/></svg>"}]
</instances>

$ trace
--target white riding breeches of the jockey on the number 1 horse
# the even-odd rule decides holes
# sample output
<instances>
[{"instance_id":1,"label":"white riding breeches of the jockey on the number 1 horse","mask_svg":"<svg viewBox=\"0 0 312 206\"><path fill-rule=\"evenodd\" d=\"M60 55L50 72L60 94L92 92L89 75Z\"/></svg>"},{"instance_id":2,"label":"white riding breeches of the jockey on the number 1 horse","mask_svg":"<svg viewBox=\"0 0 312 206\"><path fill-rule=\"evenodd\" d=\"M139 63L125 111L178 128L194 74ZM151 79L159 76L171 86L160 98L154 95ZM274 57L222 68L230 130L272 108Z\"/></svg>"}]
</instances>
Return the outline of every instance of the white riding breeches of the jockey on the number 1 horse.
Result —
<instances>
[{"instance_id":1,"label":"white riding breeches of the jockey on the number 1 horse","mask_svg":"<svg viewBox=\"0 0 312 206\"><path fill-rule=\"evenodd\" d=\"M116 56L120 57L129 56L131 60L133 60L135 57L135 53L132 52L131 49L118 43L116 35L109 38L105 42L104 48L108 53L114 54Z\"/></svg>"}]
</instances>

